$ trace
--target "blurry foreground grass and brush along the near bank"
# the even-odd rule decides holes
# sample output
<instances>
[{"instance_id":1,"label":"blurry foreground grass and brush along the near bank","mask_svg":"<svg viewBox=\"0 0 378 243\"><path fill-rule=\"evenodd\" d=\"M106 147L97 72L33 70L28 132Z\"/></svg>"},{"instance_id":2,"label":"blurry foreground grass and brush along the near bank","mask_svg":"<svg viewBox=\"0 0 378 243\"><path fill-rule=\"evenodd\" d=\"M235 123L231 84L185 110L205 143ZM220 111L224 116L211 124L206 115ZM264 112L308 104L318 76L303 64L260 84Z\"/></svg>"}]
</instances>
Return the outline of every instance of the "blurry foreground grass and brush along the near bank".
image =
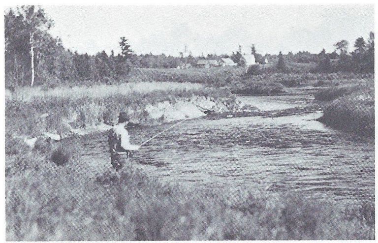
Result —
<instances>
[{"instance_id":1,"label":"blurry foreground grass and brush along the near bank","mask_svg":"<svg viewBox=\"0 0 378 243\"><path fill-rule=\"evenodd\" d=\"M300 195L184 188L126 167L88 175L76 152L6 160L6 239L301 240L374 239L374 205L345 207Z\"/></svg>"}]
</instances>

